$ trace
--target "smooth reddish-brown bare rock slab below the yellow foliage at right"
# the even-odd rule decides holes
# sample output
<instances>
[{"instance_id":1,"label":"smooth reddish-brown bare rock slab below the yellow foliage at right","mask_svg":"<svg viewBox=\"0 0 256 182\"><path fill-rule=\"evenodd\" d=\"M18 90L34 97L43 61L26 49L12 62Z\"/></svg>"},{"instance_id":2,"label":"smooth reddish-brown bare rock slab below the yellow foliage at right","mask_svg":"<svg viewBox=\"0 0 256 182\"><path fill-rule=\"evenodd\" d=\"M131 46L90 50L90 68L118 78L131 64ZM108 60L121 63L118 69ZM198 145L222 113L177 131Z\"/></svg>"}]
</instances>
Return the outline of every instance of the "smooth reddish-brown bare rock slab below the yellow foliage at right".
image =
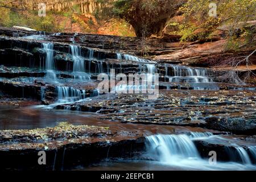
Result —
<instances>
[{"instance_id":1,"label":"smooth reddish-brown bare rock slab below the yellow foliage at right","mask_svg":"<svg viewBox=\"0 0 256 182\"><path fill-rule=\"evenodd\" d=\"M170 53L163 53L155 56L155 59L166 60L180 60L183 65L211 67L221 63L226 63L227 60L232 60L234 57L241 59L242 56L248 56L254 51L255 47L251 47L245 51L240 52L226 52L226 40L217 40L207 43L187 44L183 49L177 49ZM255 55L250 59L252 64L255 64Z\"/></svg>"}]
</instances>

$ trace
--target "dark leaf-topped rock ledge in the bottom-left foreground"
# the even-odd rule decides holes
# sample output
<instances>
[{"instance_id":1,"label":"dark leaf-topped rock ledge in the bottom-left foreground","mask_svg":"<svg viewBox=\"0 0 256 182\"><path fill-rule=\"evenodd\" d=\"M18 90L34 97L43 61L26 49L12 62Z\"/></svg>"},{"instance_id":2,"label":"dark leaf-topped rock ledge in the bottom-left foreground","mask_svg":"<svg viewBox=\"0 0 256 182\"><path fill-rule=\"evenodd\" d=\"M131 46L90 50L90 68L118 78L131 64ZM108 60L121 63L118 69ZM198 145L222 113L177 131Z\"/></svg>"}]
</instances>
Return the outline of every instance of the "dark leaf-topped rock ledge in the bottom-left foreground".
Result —
<instances>
[{"instance_id":1,"label":"dark leaf-topped rock ledge in the bottom-left foreground","mask_svg":"<svg viewBox=\"0 0 256 182\"><path fill-rule=\"evenodd\" d=\"M0 143L0 169L19 170L63 170L106 158L130 158L144 148L139 134L69 123L46 129L0 131ZM47 165L38 165L39 151L46 152Z\"/></svg>"}]
</instances>

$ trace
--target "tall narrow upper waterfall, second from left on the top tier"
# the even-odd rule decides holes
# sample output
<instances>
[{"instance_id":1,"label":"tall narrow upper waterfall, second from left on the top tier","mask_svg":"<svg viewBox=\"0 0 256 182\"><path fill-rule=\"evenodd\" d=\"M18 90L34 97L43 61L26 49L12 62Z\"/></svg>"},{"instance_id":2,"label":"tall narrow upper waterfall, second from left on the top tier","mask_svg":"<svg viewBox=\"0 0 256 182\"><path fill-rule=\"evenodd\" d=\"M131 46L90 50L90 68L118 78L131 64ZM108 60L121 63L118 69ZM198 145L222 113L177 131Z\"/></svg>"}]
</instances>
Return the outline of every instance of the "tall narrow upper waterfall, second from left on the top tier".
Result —
<instances>
[{"instance_id":1,"label":"tall narrow upper waterfall, second from left on the top tier","mask_svg":"<svg viewBox=\"0 0 256 182\"><path fill-rule=\"evenodd\" d=\"M81 56L81 48L74 45L69 45L72 53L73 72L84 72L84 58Z\"/></svg>"}]
</instances>

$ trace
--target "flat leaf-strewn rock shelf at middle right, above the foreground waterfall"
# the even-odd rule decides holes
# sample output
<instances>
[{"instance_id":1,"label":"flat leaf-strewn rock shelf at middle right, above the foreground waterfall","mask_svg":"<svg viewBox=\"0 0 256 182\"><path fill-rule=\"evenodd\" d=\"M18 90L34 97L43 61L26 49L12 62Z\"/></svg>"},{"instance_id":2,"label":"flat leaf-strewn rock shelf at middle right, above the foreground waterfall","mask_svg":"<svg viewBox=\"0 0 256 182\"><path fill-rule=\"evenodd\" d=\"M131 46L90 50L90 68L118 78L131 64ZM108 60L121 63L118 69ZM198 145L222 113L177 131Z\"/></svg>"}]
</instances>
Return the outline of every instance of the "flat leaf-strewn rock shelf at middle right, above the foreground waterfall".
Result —
<instances>
[{"instance_id":1,"label":"flat leaf-strewn rock shelf at middle right, above the foreground waterfall","mask_svg":"<svg viewBox=\"0 0 256 182\"><path fill-rule=\"evenodd\" d=\"M256 134L255 92L235 90L201 91L160 90L156 100L148 100L146 94L102 95L90 102L59 105L56 109L101 113L101 118L111 121L156 125L201 126L212 130ZM232 119L244 115L246 118ZM225 115L218 118L210 115ZM228 119L227 119L228 118Z\"/></svg>"}]
</instances>

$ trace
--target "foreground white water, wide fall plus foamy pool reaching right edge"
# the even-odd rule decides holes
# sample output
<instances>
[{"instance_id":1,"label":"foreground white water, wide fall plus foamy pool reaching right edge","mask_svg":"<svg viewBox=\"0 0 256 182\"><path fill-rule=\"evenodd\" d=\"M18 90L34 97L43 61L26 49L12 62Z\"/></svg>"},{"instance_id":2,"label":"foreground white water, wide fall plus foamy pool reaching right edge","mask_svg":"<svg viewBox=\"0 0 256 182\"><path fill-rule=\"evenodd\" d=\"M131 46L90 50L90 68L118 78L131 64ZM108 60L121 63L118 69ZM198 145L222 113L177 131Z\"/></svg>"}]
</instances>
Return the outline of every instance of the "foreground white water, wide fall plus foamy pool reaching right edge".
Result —
<instances>
[{"instance_id":1,"label":"foreground white water, wide fall plus foamy pool reaching right edge","mask_svg":"<svg viewBox=\"0 0 256 182\"><path fill-rule=\"evenodd\" d=\"M243 164L236 162L218 162L210 164L202 159L192 139L213 137L212 133L191 133L187 135L151 135L146 137L147 156L165 166L184 169L200 170L243 170L256 169L250 162L247 152L237 147ZM254 148L253 148L254 150Z\"/></svg>"}]
</instances>

